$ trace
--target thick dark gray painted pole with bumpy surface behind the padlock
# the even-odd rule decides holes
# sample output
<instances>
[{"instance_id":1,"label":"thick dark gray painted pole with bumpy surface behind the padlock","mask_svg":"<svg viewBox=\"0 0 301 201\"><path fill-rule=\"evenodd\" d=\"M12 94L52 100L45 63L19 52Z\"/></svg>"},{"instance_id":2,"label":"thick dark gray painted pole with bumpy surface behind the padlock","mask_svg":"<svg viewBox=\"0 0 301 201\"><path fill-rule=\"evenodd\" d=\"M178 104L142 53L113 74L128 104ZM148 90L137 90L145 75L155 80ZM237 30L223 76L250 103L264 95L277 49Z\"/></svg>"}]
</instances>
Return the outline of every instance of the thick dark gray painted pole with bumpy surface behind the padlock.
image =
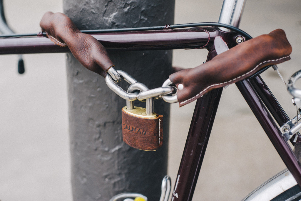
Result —
<instances>
[{"instance_id":1,"label":"thick dark gray painted pole with bumpy surface behind the padlock","mask_svg":"<svg viewBox=\"0 0 301 201\"><path fill-rule=\"evenodd\" d=\"M173 24L174 0L63 2L65 14L80 30ZM116 69L149 88L161 86L172 73L171 51L109 54ZM167 171L169 104L154 101L154 111L164 115L163 146L155 152L141 151L123 143L121 108L126 101L106 86L103 77L67 54L67 79L73 199L107 201L118 193L136 192L159 200Z\"/></svg>"}]
</instances>

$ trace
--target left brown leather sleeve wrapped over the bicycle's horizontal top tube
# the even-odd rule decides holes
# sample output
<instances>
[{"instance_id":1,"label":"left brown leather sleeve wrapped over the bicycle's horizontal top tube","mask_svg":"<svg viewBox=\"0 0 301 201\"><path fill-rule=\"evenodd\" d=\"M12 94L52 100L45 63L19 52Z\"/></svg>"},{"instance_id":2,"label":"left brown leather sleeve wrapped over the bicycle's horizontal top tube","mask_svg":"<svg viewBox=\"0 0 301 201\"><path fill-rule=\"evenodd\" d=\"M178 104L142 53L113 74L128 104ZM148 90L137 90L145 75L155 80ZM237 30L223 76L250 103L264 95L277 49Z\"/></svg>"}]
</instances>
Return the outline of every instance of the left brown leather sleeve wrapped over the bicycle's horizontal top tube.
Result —
<instances>
[{"instance_id":1,"label":"left brown leather sleeve wrapped over the bicycle's horizontal top tube","mask_svg":"<svg viewBox=\"0 0 301 201\"><path fill-rule=\"evenodd\" d=\"M80 32L66 15L47 12L40 26L55 44L68 46L74 57L89 70L105 77L107 69L114 65L104 46L93 36Z\"/></svg>"}]
</instances>

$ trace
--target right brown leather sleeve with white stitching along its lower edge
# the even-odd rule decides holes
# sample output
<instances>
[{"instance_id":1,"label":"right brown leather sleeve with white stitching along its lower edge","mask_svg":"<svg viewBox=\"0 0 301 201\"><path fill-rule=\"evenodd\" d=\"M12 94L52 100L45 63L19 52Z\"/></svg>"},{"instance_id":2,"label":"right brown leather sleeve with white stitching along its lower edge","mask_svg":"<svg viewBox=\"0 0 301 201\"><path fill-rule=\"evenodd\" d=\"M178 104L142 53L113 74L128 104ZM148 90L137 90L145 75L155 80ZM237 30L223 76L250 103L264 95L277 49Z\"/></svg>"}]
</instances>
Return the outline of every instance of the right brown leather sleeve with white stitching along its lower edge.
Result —
<instances>
[{"instance_id":1,"label":"right brown leather sleeve with white stitching along its lower edge","mask_svg":"<svg viewBox=\"0 0 301 201\"><path fill-rule=\"evenodd\" d=\"M184 69L169 76L176 86L180 106L198 99L209 90L250 77L261 68L290 59L292 48L283 30L258 36L225 51L196 68Z\"/></svg>"}]
</instances>

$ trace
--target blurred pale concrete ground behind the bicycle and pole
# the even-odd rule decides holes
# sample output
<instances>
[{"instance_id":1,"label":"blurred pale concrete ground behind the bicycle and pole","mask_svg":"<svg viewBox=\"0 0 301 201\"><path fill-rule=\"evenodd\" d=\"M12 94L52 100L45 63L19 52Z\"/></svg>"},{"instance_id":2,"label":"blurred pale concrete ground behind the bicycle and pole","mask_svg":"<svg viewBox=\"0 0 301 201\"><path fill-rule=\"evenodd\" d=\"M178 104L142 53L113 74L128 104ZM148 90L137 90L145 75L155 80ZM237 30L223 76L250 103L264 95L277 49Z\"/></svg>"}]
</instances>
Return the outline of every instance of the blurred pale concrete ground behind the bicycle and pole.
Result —
<instances>
[{"instance_id":1,"label":"blurred pale concrete ground behind the bicycle and pole","mask_svg":"<svg viewBox=\"0 0 301 201\"><path fill-rule=\"evenodd\" d=\"M175 24L218 21L222 0L176 0ZM61 0L5 1L8 23L18 33L39 32L46 11ZM301 1L247 1L240 28L255 37L281 28L293 53L279 65L285 80L300 69ZM176 66L195 67L205 50L174 51ZM64 54L0 56L0 200L72 200ZM291 97L277 73L262 77L290 117ZM163 80L162 80L163 81ZM194 103L172 104L168 173L175 182ZM224 90L193 200L239 200L285 166L235 85Z\"/></svg>"}]
</instances>

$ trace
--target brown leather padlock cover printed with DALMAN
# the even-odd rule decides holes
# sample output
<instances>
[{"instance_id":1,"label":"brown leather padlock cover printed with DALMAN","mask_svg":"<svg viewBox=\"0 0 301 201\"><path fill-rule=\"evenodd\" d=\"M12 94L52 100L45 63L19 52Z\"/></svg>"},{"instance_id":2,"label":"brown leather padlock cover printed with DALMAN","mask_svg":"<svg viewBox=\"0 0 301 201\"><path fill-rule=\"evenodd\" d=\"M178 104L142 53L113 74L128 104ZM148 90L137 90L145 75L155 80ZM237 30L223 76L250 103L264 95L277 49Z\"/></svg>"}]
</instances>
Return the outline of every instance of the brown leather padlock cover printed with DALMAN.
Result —
<instances>
[{"instance_id":1,"label":"brown leather padlock cover printed with DALMAN","mask_svg":"<svg viewBox=\"0 0 301 201\"><path fill-rule=\"evenodd\" d=\"M136 149L155 151L163 144L163 115L157 118L140 118L128 114L122 108L123 141Z\"/></svg>"}]
</instances>

